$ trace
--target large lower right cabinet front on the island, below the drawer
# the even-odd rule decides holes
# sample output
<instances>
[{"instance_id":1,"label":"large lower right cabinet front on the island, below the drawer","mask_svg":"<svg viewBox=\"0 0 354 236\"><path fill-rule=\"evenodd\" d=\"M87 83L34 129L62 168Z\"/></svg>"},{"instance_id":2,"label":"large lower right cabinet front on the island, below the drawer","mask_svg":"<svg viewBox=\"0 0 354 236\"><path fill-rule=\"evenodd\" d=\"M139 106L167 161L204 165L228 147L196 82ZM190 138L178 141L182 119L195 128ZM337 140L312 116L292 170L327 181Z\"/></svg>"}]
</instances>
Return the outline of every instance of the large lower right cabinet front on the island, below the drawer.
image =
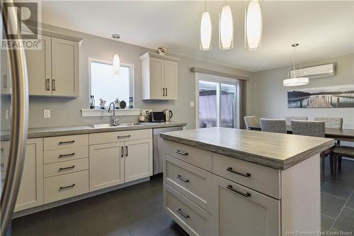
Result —
<instances>
[{"instance_id":1,"label":"large lower right cabinet front on the island, below the drawer","mask_svg":"<svg viewBox=\"0 0 354 236\"><path fill-rule=\"evenodd\" d=\"M280 235L280 201L213 176L215 235Z\"/></svg>"}]
</instances>

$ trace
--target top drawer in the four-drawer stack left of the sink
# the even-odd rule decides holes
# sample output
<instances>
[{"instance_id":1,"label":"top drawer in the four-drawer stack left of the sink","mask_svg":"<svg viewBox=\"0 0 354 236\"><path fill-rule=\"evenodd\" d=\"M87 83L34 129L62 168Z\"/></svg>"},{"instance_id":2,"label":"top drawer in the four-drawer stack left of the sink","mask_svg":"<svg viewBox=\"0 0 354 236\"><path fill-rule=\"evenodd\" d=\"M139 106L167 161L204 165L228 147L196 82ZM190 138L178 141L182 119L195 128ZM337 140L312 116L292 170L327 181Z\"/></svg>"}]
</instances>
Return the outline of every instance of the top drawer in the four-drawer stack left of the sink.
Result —
<instances>
[{"instance_id":1,"label":"top drawer in the four-drawer stack left of the sink","mask_svg":"<svg viewBox=\"0 0 354 236\"><path fill-rule=\"evenodd\" d=\"M89 145L89 135L68 135L44 138L44 150L56 150L85 145Z\"/></svg>"}]
</instances>

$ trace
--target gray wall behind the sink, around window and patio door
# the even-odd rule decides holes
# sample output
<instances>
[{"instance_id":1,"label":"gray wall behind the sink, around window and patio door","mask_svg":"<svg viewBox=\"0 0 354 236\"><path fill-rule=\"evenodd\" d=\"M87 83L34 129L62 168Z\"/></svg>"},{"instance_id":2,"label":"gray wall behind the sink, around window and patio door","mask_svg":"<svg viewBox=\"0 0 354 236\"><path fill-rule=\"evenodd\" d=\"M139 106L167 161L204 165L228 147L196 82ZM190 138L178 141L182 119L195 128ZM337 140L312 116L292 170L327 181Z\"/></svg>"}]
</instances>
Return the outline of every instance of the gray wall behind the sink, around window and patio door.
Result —
<instances>
[{"instance_id":1,"label":"gray wall behind the sink, around window and patio door","mask_svg":"<svg viewBox=\"0 0 354 236\"><path fill-rule=\"evenodd\" d=\"M142 101L142 72L139 56L152 50L55 26L46 26L45 28L84 39L80 47L80 97L78 99L30 97L30 128L108 122L109 118L107 117L83 118L80 110L81 108L89 108L89 57L113 60L116 46L122 62L134 63L135 107L152 108L154 111L162 111L164 108L169 108L173 111L172 121L186 122L188 123L187 128L195 128L195 108L190 107L190 101L195 101L195 74L190 72L190 67L200 67L251 77L250 72L240 69L173 55L181 59L178 62L178 100ZM249 82L247 84L250 85ZM250 96L250 93L248 95ZM251 112L251 101L248 105ZM44 109L50 109L51 118L43 118ZM129 118L122 117L123 119L127 120ZM137 119L137 117L131 119Z\"/></svg>"}]
</instances>

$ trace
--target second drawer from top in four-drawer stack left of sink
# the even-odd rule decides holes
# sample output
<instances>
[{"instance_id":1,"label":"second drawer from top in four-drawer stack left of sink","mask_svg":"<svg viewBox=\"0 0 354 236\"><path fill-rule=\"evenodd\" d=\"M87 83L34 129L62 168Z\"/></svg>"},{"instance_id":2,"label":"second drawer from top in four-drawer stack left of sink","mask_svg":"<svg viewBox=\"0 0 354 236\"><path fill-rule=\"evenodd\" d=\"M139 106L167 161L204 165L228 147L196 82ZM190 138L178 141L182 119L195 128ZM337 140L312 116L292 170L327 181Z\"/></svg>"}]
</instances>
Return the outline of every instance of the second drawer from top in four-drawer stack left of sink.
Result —
<instances>
[{"instance_id":1,"label":"second drawer from top in four-drawer stack left of sink","mask_svg":"<svg viewBox=\"0 0 354 236\"><path fill-rule=\"evenodd\" d=\"M53 162L65 162L72 159L89 157L89 146L71 147L66 149L51 150L44 152L44 164Z\"/></svg>"}]
</instances>

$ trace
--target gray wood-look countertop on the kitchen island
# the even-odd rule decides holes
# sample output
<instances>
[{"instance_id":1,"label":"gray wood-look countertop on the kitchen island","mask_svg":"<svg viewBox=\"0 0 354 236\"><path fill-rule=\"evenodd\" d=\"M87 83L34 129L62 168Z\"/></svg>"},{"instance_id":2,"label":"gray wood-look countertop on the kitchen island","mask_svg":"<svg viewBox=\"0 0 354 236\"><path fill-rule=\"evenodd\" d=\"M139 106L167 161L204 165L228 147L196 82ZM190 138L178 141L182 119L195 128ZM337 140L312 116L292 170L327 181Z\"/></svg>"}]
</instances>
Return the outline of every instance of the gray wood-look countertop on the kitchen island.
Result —
<instances>
[{"instance_id":1,"label":"gray wood-look countertop on the kitchen island","mask_svg":"<svg viewBox=\"0 0 354 236\"><path fill-rule=\"evenodd\" d=\"M173 131L160 136L165 140L282 170L334 145L331 138L217 127Z\"/></svg>"}]
</instances>

